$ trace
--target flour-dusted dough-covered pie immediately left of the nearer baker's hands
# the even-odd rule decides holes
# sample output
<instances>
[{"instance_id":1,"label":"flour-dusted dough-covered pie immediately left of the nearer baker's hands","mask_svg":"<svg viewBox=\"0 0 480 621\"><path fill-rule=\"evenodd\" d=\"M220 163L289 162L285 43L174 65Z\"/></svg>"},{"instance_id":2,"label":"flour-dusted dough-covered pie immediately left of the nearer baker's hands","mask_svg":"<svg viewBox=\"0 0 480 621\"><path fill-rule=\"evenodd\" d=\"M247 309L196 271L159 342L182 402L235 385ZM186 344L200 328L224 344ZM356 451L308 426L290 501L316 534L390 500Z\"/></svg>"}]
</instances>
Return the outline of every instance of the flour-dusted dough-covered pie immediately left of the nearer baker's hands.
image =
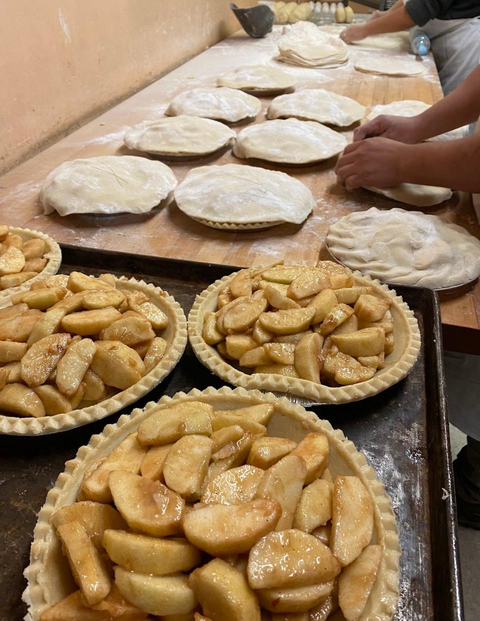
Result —
<instances>
[{"instance_id":1,"label":"flour-dusted dough-covered pie immediately left of the nearer baker's hands","mask_svg":"<svg viewBox=\"0 0 480 621\"><path fill-rule=\"evenodd\" d=\"M305 165L342 153L342 134L311 120L267 120L245 127L237 136L233 154L291 165Z\"/></svg>"}]
</instances>

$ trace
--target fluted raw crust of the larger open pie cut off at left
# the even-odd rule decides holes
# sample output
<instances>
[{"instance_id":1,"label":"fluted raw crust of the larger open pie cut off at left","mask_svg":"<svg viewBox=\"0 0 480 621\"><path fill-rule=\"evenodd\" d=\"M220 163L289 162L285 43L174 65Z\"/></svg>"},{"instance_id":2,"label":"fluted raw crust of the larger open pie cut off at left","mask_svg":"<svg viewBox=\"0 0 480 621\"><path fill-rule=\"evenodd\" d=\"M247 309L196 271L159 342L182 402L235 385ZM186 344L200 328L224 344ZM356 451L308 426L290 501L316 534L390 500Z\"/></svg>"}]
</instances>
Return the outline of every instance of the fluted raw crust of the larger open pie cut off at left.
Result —
<instances>
[{"instance_id":1,"label":"fluted raw crust of the larger open pie cut off at left","mask_svg":"<svg viewBox=\"0 0 480 621\"><path fill-rule=\"evenodd\" d=\"M117 392L114 396L97 404L72 410L67 414L55 414L37 419L0 415L0 434L44 435L80 427L94 420L103 419L138 401L140 397L153 390L162 379L173 371L187 343L187 322L182 307L174 297L153 284L147 284L143 280L138 281L134 278L127 279L125 276L115 278L115 280L122 283L123 289L142 291L150 301L167 315L168 326L162 336L168 342L168 347L158 365L130 388ZM6 302L6 300L1 301L0 307L7 306Z\"/></svg>"}]
</instances>

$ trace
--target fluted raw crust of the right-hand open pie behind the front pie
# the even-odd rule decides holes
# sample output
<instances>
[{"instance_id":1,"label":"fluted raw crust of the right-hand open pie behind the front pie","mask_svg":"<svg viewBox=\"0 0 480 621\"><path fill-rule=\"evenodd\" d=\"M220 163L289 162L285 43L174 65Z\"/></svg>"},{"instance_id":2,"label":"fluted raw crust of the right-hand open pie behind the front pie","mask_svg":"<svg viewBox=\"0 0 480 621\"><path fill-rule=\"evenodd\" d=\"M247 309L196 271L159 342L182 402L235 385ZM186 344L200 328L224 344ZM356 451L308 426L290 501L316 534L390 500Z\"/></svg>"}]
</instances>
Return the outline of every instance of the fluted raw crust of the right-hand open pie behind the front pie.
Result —
<instances>
[{"instance_id":1,"label":"fluted raw crust of the right-hand open pie behind the front pie","mask_svg":"<svg viewBox=\"0 0 480 621\"><path fill-rule=\"evenodd\" d=\"M290 378L279 374L243 373L224 360L212 345L207 345L202 337L205 314L217 310L219 291L230 283L235 274L237 272L224 276L202 291L196 297L188 315L188 337L195 355L212 373L234 386L286 392L320 403L360 401L360 399L384 391L407 376L419 356L421 343L419 324L407 304L386 284L380 284L378 280L373 280L355 271L353 278L357 286L373 287L376 294L392 300L390 311L394 317L395 348L386 357L384 369L377 371L368 381L338 388L330 388L307 379Z\"/></svg>"}]
</instances>

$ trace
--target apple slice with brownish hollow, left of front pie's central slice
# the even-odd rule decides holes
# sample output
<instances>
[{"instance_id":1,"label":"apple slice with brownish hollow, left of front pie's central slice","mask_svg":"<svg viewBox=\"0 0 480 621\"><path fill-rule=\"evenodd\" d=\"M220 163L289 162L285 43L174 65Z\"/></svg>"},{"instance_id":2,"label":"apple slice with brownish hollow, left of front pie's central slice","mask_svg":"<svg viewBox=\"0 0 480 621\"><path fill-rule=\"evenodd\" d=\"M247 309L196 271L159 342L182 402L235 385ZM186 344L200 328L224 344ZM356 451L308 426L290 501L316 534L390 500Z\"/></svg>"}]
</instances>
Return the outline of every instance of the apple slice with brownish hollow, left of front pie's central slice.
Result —
<instances>
[{"instance_id":1,"label":"apple slice with brownish hollow, left of front pie's central slice","mask_svg":"<svg viewBox=\"0 0 480 621\"><path fill-rule=\"evenodd\" d=\"M159 481L115 470L109 474L108 484L115 506L133 530L154 537L181 532L185 501Z\"/></svg>"}]
</instances>

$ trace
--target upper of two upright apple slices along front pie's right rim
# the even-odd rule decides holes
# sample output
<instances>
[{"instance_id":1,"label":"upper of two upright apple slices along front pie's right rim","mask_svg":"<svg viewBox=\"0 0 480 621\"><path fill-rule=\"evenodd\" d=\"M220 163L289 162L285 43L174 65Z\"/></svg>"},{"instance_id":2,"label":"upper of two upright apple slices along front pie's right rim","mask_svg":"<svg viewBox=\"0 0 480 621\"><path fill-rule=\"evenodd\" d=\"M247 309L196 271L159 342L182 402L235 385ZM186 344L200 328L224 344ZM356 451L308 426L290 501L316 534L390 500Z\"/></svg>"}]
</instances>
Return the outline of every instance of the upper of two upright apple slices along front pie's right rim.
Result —
<instances>
[{"instance_id":1,"label":"upper of two upright apple slices along front pie's right rim","mask_svg":"<svg viewBox=\"0 0 480 621\"><path fill-rule=\"evenodd\" d=\"M345 567L371 542L373 501L358 476L336 476L333 486L330 548Z\"/></svg>"}]
</instances>

